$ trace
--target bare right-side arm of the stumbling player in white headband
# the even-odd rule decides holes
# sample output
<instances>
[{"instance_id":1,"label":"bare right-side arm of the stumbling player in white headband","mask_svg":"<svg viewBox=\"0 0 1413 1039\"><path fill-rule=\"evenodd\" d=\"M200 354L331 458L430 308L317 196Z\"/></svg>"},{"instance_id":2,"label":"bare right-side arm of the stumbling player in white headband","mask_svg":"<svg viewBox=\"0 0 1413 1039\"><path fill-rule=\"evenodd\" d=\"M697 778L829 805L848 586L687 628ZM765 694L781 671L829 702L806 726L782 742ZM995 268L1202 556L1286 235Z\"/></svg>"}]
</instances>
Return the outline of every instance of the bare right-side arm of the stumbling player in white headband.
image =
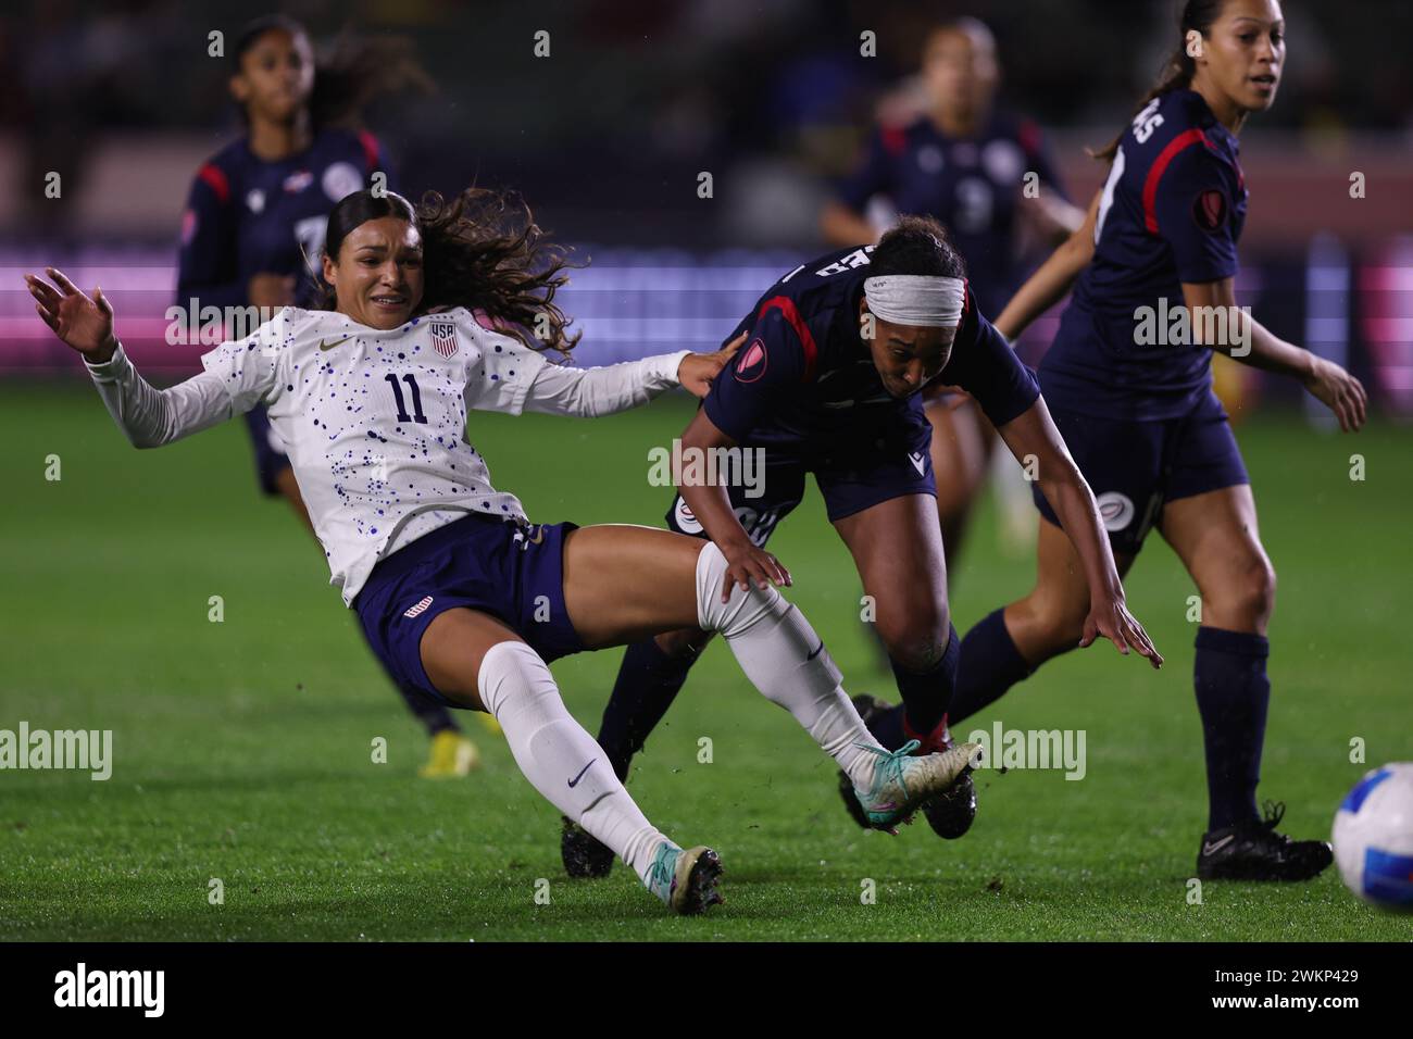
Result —
<instances>
[{"instance_id":1,"label":"bare right-side arm of the stumbling player in white headband","mask_svg":"<svg viewBox=\"0 0 1413 1039\"><path fill-rule=\"evenodd\" d=\"M1118 646L1121 653L1128 654L1132 646L1140 656L1147 657L1154 669L1161 667L1163 657L1153 647L1153 640L1143 630L1143 625L1129 614L1123 599L1123 582L1119 580L1113 553L1109 550L1109 537L1099 520L1099 507L1080 466L1070 457L1054 420L1050 418L1044 397L1036 397L1036 403L1027 411L1012 418L998 433L1016 455L1016 461L1024 465L1027 459L1034 459L1040 491L1060 517L1060 526L1064 527L1084 564L1084 574L1089 582L1089 615L1084 619L1084 638L1080 645L1089 646L1102 635Z\"/></svg>"}]
</instances>

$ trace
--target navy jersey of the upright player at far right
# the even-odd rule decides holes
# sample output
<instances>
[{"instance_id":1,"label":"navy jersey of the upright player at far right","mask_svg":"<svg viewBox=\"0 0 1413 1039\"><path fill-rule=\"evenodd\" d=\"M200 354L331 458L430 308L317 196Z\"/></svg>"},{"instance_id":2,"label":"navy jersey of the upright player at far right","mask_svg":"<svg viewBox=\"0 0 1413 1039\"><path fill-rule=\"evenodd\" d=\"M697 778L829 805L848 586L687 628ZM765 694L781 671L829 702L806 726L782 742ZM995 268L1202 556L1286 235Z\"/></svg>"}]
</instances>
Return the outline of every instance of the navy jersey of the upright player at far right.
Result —
<instances>
[{"instance_id":1,"label":"navy jersey of the upright player at far right","mask_svg":"<svg viewBox=\"0 0 1413 1039\"><path fill-rule=\"evenodd\" d=\"M1211 349L1140 342L1143 308L1169 327L1183 283L1236 274L1246 182L1236 139L1193 90L1156 98L1119 141L1099 199L1094 259L1044 360L1046 400L1109 418L1174 418L1211 386Z\"/></svg>"}]
</instances>

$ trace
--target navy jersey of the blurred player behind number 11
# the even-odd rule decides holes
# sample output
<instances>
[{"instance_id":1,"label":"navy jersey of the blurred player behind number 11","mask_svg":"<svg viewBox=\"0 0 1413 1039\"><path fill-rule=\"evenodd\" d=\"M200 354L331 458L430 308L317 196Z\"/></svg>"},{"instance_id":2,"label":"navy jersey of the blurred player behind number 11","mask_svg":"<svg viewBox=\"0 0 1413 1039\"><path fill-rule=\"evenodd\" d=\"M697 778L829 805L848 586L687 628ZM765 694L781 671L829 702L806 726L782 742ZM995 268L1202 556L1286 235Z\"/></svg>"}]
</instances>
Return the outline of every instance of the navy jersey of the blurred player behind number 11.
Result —
<instances>
[{"instance_id":1,"label":"navy jersey of the blurred player behind number 11","mask_svg":"<svg viewBox=\"0 0 1413 1039\"><path fill-rule=\"evenodd\" d=\"M377 140L367 131L319 130L298 155L257 158L244 137L196 172L182 215L178 303L243 307L256 274L294 274L297 303L308 305L314 278L304 256L318 264L329 211L345 195L389 174ZM391 174L389 174L389 189ZM302 253L301 253L302 249Z\"/></svg>"}]
</instances>

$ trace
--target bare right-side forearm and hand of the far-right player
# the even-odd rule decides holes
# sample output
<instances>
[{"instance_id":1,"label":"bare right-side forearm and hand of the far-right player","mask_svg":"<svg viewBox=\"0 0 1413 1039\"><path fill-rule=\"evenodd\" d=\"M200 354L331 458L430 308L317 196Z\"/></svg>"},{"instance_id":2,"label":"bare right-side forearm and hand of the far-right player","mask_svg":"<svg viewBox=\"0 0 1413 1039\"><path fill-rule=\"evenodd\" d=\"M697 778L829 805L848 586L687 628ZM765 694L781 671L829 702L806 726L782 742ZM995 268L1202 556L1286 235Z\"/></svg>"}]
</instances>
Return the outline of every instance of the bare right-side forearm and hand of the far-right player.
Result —
<instances>
[{"instance_id":1,"label":"bare right-side forearm and hand of the far-right player","mask_svg":"<svg viewBox=\"0 0 1413 1039\"><path fill-rule=\"evenodd\" d=\"M1345 433L1364 425L1369 407L1369 394L1364 383L1332 360L1286 342L1256 318L1238 310L1232 278L1184 281L1183 303L1187 304L1194 342L1252 368L1299 379L1301 386L1334 411L1340 428ZM1222 319L1208 321L1204 315ZM1211 342L1207 342L1207 338L1211 338Z\"/></svg>"}]
</instances>

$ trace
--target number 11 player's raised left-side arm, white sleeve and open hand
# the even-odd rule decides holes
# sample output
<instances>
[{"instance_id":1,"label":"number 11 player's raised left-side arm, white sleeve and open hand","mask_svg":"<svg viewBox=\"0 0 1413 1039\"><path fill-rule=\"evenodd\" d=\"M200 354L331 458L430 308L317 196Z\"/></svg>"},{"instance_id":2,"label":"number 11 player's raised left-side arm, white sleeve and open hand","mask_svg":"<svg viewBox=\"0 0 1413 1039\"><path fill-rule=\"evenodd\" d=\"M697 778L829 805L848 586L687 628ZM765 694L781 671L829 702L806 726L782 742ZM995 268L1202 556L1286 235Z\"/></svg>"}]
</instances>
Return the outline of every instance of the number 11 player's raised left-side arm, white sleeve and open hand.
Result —
<instances>
[{"instance_id":1,"label":"number 11 player's raised left-side arm, white sleeve and open hand","mask_svg":"<svg viewBox=\"0 0 1413 1039\"><path fill-rule=\"evenodd\" d=\"M62 271L47 267L45 273L52 286L32 274L24 277L35 311L59 339L83 355L103 404L134 447L170 444L235 413L232 394L209 370L167 390L153 389L113 335L113 307L103 290L95 288L90 298Z\"/></svg>"}]
</instances>

